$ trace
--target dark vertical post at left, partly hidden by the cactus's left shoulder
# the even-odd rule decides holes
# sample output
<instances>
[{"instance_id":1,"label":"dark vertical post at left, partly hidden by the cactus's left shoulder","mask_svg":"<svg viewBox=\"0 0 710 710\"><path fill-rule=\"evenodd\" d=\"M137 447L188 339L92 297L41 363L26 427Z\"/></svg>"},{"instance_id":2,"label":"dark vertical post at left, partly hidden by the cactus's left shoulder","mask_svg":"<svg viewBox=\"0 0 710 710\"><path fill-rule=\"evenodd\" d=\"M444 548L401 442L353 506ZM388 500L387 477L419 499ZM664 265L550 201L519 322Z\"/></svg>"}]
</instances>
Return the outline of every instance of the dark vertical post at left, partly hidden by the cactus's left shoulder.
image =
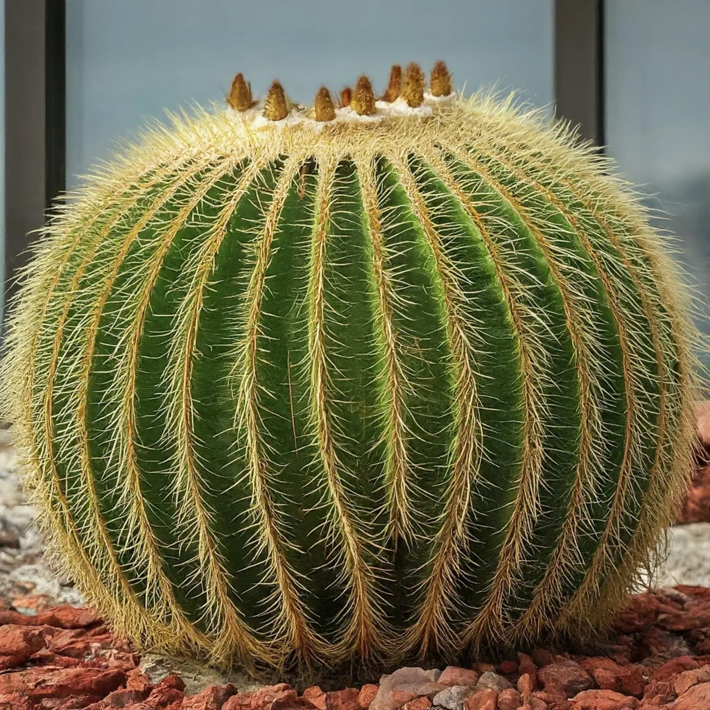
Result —
<instances>
[{"instance_id":1,"label":"dark vertical post at left, partly hidden by the cactus's left shoulder","mask_svg":"<svg viewBox=\"0 0 710 710\"><path fill-rule=\"evenodd\" d=\"M4 290L64 188L65 0L5 3Z\"/></svg>"}]
</instances>

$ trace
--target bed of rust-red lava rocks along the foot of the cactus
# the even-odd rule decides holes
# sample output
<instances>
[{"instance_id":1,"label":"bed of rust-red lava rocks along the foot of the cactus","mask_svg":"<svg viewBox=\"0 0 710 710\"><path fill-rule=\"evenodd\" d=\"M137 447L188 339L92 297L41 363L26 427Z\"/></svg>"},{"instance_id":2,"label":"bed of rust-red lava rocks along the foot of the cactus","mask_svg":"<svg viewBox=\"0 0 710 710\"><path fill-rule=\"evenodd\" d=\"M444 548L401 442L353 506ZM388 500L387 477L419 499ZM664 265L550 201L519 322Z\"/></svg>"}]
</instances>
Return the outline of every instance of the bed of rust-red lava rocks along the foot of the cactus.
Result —
<instances>
[{"instance_id":1,"label":"bed of rust-red lava rocks along the foot of the cactus","mask_svg":"<svg viewBox=\"0 0 710 710\"><path fill-rule=\"evenodd\" d=\"M538 648L534 660L519 653L496 667L403 668L379 686L315 686L300 698L285 684L244 694L213 686L189 697L179 677L151 684L129 643L87 609L5 610L0 625L0 710L430 710L436 694L452 689L457 697L442 695L442 704L466 710L710 710L710 589L703 587L631 597L617 635L591 657ZM481 687L484 675L502 682ZM518 688L506 687L516 677Z\"/></svg>"}]
</instances>

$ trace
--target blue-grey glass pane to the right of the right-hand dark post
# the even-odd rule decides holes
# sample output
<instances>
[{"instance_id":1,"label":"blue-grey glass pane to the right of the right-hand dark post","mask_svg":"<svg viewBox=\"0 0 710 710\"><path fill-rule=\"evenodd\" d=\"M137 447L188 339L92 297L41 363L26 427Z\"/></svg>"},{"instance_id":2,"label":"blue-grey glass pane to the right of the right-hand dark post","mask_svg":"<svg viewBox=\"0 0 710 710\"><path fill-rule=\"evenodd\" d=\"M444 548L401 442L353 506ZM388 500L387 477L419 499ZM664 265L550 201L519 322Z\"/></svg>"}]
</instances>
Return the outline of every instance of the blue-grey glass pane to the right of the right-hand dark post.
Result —
<instances>
[{"instance_id":1,"label":"blue-grey glass pane to the right of the right-hand dark post","mask_svg":"<svg viewBox=\"0 0 710 710\"><path fill-rule=\"evenodd\" d=\"M623 0L605 13L609 152L681 239L710 333L710 3Z\"/></svg>"}]
</instances>

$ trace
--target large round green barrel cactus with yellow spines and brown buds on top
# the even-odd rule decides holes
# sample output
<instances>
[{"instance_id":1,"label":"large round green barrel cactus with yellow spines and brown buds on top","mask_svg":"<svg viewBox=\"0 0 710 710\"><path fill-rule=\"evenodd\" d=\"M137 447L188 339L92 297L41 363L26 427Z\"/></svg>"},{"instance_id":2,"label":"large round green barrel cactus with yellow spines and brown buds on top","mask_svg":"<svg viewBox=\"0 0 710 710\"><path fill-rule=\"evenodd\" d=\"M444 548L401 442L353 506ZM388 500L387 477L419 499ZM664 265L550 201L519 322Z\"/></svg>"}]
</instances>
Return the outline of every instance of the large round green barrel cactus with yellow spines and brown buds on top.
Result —
<instances>
[{"instance_id":1,"label":"large round green barrel cactus with yellow spines and brown buds on top","mask_svg":"<svg viewBox=\"0 0 710 710\"><path fill-rule=\"evenodd\" d=\"M592 633L691 469L663 239L440 62L339 97L238 75L50 220L3 376L51 547L116 630L222 666Z\"/></svg>"}]
</instances>

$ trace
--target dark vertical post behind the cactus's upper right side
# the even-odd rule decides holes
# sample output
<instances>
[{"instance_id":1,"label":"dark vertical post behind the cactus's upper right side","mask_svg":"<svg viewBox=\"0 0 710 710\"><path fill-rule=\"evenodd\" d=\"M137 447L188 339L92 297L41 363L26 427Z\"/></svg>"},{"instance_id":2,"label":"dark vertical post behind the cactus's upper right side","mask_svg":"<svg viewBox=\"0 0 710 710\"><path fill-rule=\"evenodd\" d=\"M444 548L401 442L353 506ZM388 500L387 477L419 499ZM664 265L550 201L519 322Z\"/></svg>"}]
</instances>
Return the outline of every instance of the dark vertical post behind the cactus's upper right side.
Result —
<instances>
[{"instance_id":1,"label":"dark vertical post behind the cactus's upper right side","mask_svg":"<svg viewBox=\"0 0 710 710\"><path fill-rule=\"evenodd\" d=\"M603 0L555 0L555 114L601 146Z\"/></svg>"}]
</instances>

